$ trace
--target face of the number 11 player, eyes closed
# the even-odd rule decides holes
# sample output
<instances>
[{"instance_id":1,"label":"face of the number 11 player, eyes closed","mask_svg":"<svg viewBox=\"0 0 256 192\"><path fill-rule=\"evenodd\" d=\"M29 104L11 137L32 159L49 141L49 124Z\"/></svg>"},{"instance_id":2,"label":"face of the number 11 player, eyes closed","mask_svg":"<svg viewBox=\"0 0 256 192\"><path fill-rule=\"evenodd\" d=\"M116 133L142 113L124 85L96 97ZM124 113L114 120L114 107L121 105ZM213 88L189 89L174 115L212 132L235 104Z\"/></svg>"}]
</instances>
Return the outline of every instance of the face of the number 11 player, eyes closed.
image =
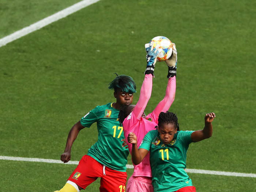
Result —
<instances>
[{"instance_id":1,"label":"face of the number 11 player, eyes closed","mask_svg":"<svg viewBox=\"0 0 256 192\"><path fill-rule=\"evenodd\" d=\"M164 123L161 127L158 127L158 132L162 142L164 144L170 144L175 133L177 133L177 128L173 123Z\"/></svg>"}]
</instances>

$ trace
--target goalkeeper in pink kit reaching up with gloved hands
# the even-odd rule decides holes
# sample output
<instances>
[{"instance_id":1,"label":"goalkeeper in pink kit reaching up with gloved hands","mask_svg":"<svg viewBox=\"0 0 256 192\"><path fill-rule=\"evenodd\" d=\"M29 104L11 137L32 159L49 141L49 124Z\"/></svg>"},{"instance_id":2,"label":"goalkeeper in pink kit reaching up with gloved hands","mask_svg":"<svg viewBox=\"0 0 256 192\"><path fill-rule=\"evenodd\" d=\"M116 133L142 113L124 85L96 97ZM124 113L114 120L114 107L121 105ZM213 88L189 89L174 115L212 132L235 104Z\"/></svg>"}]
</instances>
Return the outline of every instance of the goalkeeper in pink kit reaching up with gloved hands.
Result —
<instances>
[{"instance_id":1,"label":"goalkeeper in pink kit reaching up with gloved hands","mask_svg":"<svg viewBox=\"0 0 256 192\"><path fill-rule=\"evenodd\" d=\"M145 71L145 78L140 90L139 101L136 105L124 106L119 112L120 125L123 124L124 136L127 139L130 132L137 136L137 146L142 143L142 139L148 131L155 130L158 124L158 116L161 112L166 112L172 105L176 92L176 68L177 68L177 51L175 44L173 44L173 53L169 60L166 60L168 65L168 83L166 94L162 101L152 113L147 116L144 113L147 102L150 99L152 91L152 79L154 76L154 68L157 60L157 55L161 50L158 47L152 47L152 44L145 45L147 52L147 67ZM127 142L128 143L128 142ZM128 143L129 151L131 153L132 144ZM150 167L149 153L138 165L134 165L134 172L127 182L127 192L153 192L152 174Z\"/></svg>"}]
</instances>

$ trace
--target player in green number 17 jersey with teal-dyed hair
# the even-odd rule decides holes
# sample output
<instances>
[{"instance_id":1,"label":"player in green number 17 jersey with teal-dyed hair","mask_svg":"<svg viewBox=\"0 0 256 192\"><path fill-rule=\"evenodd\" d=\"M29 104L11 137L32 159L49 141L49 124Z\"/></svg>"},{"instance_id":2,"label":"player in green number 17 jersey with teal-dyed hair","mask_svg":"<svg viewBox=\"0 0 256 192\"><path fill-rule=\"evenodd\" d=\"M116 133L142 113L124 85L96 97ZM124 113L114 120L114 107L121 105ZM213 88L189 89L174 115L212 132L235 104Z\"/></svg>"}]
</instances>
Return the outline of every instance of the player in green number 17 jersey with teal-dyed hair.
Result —
<instances>
[{"instance_id":1,"label":"player in green number 17 jersey with teal-dyed hair","mask_svg":"<svg viewBox=\"0 0 256 192\"><path fill-rule=\"evenodd\" d=\"M71 158L71 147L79 131L89 128L94 122L97 122L98 141L79 161L60 192L79 192L98 177L101 177L99 191L125 192L129 150L123 147L124 133L119 125L118 113L121 106L132 103L136 85L130 76L120 75L109 83L109 89L114 89L116 102L92 109L69 131L64 153L60 157L64 163Z\"/></svg>"}]
</instances>

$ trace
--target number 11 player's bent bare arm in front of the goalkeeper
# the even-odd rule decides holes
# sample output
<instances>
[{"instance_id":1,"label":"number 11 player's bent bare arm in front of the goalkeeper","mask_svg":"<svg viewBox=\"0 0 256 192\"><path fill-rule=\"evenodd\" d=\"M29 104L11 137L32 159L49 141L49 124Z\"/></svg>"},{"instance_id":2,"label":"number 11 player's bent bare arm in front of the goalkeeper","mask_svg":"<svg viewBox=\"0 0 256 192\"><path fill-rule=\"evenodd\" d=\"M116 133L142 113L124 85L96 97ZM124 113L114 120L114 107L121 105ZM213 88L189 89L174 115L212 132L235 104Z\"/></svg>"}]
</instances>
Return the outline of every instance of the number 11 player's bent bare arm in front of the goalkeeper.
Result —
<instances>
[{"instance_id":1,"label":"number 11 player's bent bare arm in front of the goalkeeper","mask_svg":"<svg viewBox=\"0 0 256 192\"><path fill-rule=\"evenodd\" d=\"M144 149L144 148L140 148L138 149L137 147L137 137L134 133L129 133L127 140L129 143L132 144L132 162L135 165L140 164L140 162L142 162L142 160L144 159L144 157L146 157L146 155L148 154L148 150Z\"/></svg>"}]
</instances>

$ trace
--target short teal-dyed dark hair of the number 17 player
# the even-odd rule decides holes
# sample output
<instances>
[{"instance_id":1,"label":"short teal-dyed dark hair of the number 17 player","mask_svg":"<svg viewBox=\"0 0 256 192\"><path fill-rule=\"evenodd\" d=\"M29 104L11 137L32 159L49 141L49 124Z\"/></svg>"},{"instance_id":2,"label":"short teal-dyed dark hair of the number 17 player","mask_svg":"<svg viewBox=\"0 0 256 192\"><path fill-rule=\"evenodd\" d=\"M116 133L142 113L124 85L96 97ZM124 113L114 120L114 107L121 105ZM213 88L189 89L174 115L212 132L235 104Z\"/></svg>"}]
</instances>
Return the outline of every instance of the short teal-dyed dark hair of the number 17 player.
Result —
<instances>
[{"instance_id":1,"label":"short teal-dyed dark hair of the number 17 player","mask_svg":"<svg viewBox=\"0 0 256 192\"><path fill-rule=\"evenodd\" d=\"M118 88L125 93L136 93L136 84L133 79L127 75L117 75L117 77L109 83L109 89L116 91Z\"/></svg>"}]
</instances>

